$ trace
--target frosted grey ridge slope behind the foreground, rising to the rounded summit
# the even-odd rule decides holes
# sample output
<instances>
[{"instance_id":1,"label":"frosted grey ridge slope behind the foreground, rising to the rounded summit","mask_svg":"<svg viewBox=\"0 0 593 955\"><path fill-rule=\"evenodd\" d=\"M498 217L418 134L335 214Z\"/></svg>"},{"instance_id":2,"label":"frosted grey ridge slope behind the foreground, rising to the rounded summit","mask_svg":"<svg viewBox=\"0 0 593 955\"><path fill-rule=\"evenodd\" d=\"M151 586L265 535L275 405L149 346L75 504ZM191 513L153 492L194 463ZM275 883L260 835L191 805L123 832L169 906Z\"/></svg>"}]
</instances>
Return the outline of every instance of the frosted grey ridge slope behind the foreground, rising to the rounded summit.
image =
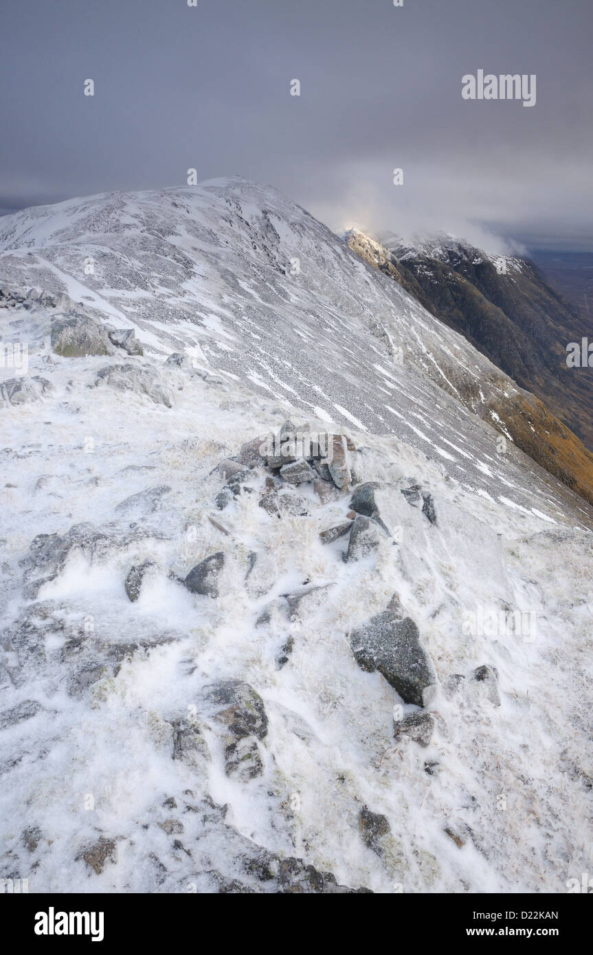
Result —
<instances>
[{"instance_id":1,"label":"frosted grey ridge slope behind the foreground, rising to the rounded summit","mask_svg":"<svg viewBox=\"0 0 593 955\"><path fill-rule=\"evenodd\" d=\"M186 350L226 381L411 440L525 506L520 441L593 501L593 456L574 435L274 189L213 180L24 210L0 223L0 249L1 281L67 292L155 356Z\"/></svg>"}]
</instances>

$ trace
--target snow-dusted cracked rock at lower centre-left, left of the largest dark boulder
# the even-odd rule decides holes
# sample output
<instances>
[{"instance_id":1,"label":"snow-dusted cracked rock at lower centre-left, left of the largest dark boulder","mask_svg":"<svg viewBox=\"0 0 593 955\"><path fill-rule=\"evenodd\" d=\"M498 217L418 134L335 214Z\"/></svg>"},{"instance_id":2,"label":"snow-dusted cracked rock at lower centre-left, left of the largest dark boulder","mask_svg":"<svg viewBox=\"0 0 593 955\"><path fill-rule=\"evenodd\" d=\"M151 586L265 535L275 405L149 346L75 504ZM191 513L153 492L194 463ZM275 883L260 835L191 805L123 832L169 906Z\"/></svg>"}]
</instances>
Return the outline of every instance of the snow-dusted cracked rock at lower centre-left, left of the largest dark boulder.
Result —
<instances>
[{"instance_id":1,"label":"snow-dusted cracked rock at lower centre-left, left of the largest dark boulder","mask_svg":"<svg viewBox=\"0 0 593 955\"><path fill-rule=\"evenodd\" d=\"M220 680L202 690L211 716L222 727L226 775L244 781L261 775L262 757L257 740L267 734L267 715L259 693L243 680Z\"/></svg>"}]
</instances>

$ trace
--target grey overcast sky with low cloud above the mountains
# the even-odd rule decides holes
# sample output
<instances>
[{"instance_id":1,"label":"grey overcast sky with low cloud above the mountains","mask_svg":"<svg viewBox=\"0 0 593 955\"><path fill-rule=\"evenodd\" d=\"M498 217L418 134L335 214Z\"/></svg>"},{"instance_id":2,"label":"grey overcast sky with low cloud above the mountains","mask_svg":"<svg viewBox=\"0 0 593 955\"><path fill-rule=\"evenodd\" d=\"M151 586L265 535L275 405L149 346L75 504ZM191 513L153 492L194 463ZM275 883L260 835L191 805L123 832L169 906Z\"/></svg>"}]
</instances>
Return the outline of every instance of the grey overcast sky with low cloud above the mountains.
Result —
<instances>
[{"instance_id":1,"label":"grey overcast sky with low cloud above the mountains","mask_svg":"<svg viewBox=\"0 0 593 955\"><path fill-rule=\"evenodd\" d=\"M194 167L338 230L593 250L592 27L591 0L4 0L0 208ZM464 100L478 69L536 105Z\"/></svg>"}]
</instances>

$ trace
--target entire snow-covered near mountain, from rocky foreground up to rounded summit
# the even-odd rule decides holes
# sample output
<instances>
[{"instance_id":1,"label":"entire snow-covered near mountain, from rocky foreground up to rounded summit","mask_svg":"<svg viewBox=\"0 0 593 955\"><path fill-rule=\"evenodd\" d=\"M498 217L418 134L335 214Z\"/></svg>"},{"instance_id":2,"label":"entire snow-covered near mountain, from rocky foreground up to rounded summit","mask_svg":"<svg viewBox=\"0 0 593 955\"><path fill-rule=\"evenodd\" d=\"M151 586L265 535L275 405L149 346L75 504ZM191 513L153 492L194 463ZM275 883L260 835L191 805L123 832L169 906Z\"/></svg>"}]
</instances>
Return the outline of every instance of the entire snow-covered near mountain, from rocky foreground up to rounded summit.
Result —
<instances>
[{"instance_id":1,"label":"entire snow-covered near mountain, from rocky foreground up to rounded summit","mask_svg":"<svg viewBox=\"0 0 593 955\"><path fill-rule=\"evenodd\" d=\"M525 393L267 187L0 230L5 878L566 891L593 514Z\"/></svg>"}]
</instances>

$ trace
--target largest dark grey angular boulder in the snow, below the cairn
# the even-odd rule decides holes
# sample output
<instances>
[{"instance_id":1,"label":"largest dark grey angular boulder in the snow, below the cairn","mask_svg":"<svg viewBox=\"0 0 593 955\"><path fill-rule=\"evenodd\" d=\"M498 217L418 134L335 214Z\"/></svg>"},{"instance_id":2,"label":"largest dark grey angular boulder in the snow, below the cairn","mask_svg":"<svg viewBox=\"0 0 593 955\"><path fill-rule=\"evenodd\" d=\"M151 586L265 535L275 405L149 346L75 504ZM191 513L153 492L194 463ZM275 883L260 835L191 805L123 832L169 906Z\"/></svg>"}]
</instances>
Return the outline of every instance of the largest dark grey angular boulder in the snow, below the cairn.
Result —
<instances>
[{"instance_id":1,"label":"largest dark grey angular boulder in the snow, below the cairn","mask_svg":"<svg viewBox=\"0 0 593 955\"><path fill-rule=\"evenodd\" d=\"M434 686L436 674L410 617L384 610L350 633L350 646L360 668L378 669L404 703L424 706L424 690Z\"/></svg>"}]
</instances>

